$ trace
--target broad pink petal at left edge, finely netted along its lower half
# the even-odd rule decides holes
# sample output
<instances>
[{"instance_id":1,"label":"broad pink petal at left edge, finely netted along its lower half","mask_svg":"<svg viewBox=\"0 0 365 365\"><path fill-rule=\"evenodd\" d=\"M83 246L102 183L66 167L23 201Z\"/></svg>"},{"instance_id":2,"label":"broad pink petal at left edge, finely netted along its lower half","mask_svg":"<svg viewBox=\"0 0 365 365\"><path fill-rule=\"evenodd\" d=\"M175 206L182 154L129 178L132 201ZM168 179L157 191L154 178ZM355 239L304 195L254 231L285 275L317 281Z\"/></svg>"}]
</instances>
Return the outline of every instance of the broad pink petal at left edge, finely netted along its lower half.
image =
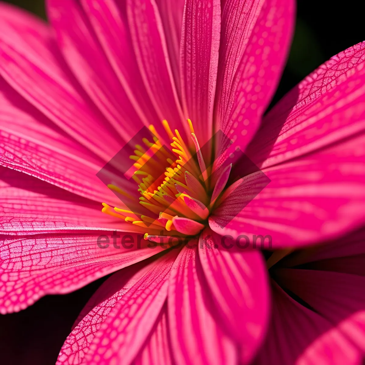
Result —
<instances>
[{"instance_id":1,"label":"broad pink petal at left edge, finely netted along its lower half","mask_svg":"<svg viewBox=\"0 0 365 365\"><path fill-rule=\"evenodd\" d=\"M0 80L0 164L93 199L119 199L96 177L103 162ZM82 169L80 168L82 166Z\"/></svg>"}]
</instances>

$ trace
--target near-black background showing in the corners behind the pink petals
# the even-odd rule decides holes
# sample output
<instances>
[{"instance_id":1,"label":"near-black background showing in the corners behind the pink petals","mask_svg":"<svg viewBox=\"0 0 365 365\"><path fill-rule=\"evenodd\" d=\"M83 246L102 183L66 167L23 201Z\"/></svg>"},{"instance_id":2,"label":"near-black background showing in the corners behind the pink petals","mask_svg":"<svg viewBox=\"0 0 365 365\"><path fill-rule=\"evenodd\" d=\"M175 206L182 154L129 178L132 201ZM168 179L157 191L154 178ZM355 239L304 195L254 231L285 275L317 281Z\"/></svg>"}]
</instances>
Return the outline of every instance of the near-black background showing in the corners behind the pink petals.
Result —
<instances>
[{"instance_id":1,"label":"near-black background showing in the corners behind the pink petals","mask_svg":"<svg viewBox=\"0 0 365 365\"><path fill-rule=\"evenodd\" d=\"M173 1L173 0L171 0ZM9 0L46 18L43 0ZM276 102L317 66L365 41L363 1L298 0L297 24ZM360 8L361 6L361 8ZM0 315L0 358L7 365L53 365L82 307L105 279L68 295L46 296L26 310Z\"/></svg>"}]
</instances>

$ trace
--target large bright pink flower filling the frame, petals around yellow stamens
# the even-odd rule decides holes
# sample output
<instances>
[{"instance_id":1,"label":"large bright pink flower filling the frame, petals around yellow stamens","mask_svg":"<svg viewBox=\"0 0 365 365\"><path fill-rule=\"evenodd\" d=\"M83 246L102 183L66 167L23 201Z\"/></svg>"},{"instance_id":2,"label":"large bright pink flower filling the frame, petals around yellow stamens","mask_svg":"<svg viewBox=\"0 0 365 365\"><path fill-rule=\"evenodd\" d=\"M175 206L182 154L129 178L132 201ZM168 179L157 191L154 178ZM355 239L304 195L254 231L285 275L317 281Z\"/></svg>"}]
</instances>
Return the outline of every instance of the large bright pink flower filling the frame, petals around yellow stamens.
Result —
<instances>
[{"instance_id":1,"label":"large bright pink flower filling the frame, petals around yellow stamens","mask_svg":"<svg viewBox=\"0 0 365 365\"><path fill-rule=\"evenodd\" d=\"M1 313L116 272L57 364L360 364L364 231L350 233L365 220L365 42L264 116L293 1L49 0L47 8L51 26L0 9ZM109 189L96 173L143 126L158 141L140 141L132 157L142 196L127 183ZM271 180L253 200L257 173L231 187L227 165L208 185L199 175L212 161L187 163L218 130ZM146 171L146 147L170 142L178 162L161 158ZM154 176L161 166L166 183ZM164 214L141 216L142 205ZM161 230L187 245L151 249L166 241ZM266 265L261 251L238 245L260 234L272 237Z\"/></svg>"}]
</instances>

